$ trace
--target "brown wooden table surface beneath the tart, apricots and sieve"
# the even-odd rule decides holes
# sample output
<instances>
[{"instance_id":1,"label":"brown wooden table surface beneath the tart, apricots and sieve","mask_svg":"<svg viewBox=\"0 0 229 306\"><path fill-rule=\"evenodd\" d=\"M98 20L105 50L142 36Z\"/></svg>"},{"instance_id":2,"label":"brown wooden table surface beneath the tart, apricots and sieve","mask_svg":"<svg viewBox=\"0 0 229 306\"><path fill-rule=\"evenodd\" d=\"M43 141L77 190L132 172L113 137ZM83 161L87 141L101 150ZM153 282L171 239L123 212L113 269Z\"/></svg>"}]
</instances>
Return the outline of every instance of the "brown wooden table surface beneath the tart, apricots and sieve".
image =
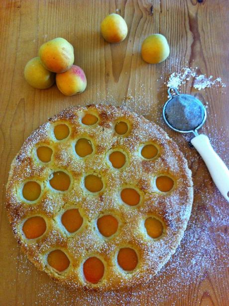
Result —
<instances>
[{"instance_id":1,"label":"brown wooden table surface beneath the tart, apricots and sieve","mask_svg":"<svg viewBox=\"0 0 229 306\"><path fill-rule=\"evenodd\" d=\"M127 38L114 45L100 35L102 19L112 12L128 26ZM199 74L220 76L229 85L228 14L228 0L0 1L0 306L229 305L228 204L189 146L190 137L172 132L161 120L172 72L198 67ZM164 34L171 47L169 58L158 65L146 64L140 56L141 42L152 33ZM65 97L56 86L35 90L23 78L26 62L55 37L66 38L75 48L75 64L88 80L83 94ZM229 165L228 88L197 91L185 83L181 90L197 94L208 106L202 132ZM181 247L149 283L104 294L70 292L37 271L19 250L6 216L5 185L11 161L33 129L67 106L106 101L127 101L178 143L193 172L193 212Z\"/></svg>"}]
</instances>

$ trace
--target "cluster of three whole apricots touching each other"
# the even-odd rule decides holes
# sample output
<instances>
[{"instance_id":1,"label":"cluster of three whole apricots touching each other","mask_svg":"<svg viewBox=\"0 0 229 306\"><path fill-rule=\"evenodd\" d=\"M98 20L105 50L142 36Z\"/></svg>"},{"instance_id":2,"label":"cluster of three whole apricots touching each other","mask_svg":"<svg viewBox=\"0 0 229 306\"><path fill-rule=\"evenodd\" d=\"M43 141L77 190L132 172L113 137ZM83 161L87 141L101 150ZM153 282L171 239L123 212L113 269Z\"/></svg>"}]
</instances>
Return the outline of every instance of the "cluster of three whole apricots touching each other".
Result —
<instances>
[{"instance_id":1,"label":"cluster of three whole apricots touching each other","mask_svg":"<svg viewBox=\"0 0 229 306\"><path fill-rule=\"evenodd\" d=\"M29 85L38 89L49 88L56 80L62 94L73 96L87 87L83 69L73 63L73 46L66 39L58 37L40 46L39 56L26 64L24 77Z\"/></svg>"}]
</instances>

